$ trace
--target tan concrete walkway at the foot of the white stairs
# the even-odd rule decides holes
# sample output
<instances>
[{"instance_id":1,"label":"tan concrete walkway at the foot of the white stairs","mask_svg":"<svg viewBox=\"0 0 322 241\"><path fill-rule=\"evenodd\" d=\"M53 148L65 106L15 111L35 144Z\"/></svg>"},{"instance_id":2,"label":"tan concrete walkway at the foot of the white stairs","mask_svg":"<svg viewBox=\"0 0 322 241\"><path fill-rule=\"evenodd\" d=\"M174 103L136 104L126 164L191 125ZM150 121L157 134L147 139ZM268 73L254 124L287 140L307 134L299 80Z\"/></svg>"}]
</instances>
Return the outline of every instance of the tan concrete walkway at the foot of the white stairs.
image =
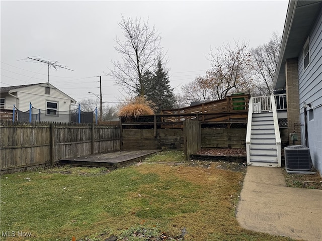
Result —
<instances>
[{"instance_id":1,"label":"tan concrete walkway at the foot of the white stairs","mask_svg":"<svg viewBox=\"0 0 322 241\"><path fill-rule=\"evenodd\" d=\"M322 190L286 187L281 168L248 166L236 217L241 227L322 240Z\"/></svg>"}]
</instances>

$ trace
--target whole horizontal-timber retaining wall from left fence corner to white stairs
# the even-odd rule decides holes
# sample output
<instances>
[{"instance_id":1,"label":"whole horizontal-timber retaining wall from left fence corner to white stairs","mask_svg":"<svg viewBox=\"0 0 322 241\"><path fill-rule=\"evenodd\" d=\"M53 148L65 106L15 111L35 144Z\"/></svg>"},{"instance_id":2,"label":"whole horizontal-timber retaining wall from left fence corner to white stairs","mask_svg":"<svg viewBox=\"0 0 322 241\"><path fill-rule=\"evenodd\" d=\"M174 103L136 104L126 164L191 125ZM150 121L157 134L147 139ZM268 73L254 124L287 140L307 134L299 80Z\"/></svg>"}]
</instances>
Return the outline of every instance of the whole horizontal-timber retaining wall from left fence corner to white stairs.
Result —
<instances>
[{"instance_id":1,"label":"whole horizontal-timber retaining wall from left fence corner to white stairs","mask_svg":"<svg viewBox=\"0 0 322 241\"><path fill-rule=\"evenodd\" d=\"M201 135L194 131L191 131L191 135L188 134L191 150L189 153L193 153L200 148L246 148L246 128L200 128L200 132ZM153 129L123 129L122 149L185 150L185 135L184 129L157 129L156 137L154 137ZM200 140L200 148L197 143L198 140Z\"/></svg>"}]
</instances>

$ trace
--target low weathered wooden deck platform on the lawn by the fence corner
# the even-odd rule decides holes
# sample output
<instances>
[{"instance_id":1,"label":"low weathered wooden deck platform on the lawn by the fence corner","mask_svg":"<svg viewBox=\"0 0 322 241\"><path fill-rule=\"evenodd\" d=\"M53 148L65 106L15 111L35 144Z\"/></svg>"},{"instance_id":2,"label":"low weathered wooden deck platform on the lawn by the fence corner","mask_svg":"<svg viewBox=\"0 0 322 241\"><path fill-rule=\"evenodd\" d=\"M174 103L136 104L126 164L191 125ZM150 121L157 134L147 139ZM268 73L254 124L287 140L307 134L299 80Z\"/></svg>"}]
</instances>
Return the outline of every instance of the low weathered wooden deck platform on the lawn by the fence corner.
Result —
<instances>
[{"instance_id":1,"label":"low weathered wooden deck platform on the lawn by the fence corner","mask_svg":"<svg viewBox=\"0 0 322 241\"><path fill-rule=\"evenodd\" d=\"M100 155L59 159L59 163L76 166L117 168L131 162L142 160L158 151L160 150L119 151Z\"/></svg>"}]
</instances>

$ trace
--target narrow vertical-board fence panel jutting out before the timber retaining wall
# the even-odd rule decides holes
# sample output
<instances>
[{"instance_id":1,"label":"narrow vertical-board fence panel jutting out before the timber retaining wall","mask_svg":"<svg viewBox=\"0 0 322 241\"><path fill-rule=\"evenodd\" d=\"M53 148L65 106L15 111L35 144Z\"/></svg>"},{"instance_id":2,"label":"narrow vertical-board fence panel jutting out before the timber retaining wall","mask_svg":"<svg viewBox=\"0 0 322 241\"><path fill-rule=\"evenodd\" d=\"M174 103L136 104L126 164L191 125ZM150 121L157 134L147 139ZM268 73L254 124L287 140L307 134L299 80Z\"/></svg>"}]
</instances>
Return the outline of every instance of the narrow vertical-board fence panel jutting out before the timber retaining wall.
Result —
<instances>
[{"instance_id":1,"label":"narrow vertical-board fence panel jutting out before the timber retaining wall","mask_svg":"<svg viewBox=\"0 0 322 241\"><path fill-rule=\"evenodd\" d=\"M201 148L201 124L199 121L187 120L184 123L184 153L185 159L197 153Z\"/></svg>"}]
</instances>

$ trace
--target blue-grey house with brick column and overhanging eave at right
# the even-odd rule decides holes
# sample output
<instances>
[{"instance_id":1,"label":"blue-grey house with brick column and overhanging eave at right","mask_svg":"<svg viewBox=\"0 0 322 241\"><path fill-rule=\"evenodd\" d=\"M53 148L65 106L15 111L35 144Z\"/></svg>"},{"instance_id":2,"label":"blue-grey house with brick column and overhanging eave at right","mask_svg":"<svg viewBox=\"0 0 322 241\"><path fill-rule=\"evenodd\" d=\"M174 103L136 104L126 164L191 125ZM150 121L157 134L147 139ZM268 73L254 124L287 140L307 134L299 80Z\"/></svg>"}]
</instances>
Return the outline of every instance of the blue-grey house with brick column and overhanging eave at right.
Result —
<instances>
[{"instance_id":1,"label":"blue-grey house with brick column and overhanging eave at right","mask_svg":"<svg viewBox=\"0 0 322 241\"><path fill-rule=\"evenodd\" d=\"M322 1L289 1L274 88L286 90L289 133L322 175Z\"/></svg>"}]
</instances>

